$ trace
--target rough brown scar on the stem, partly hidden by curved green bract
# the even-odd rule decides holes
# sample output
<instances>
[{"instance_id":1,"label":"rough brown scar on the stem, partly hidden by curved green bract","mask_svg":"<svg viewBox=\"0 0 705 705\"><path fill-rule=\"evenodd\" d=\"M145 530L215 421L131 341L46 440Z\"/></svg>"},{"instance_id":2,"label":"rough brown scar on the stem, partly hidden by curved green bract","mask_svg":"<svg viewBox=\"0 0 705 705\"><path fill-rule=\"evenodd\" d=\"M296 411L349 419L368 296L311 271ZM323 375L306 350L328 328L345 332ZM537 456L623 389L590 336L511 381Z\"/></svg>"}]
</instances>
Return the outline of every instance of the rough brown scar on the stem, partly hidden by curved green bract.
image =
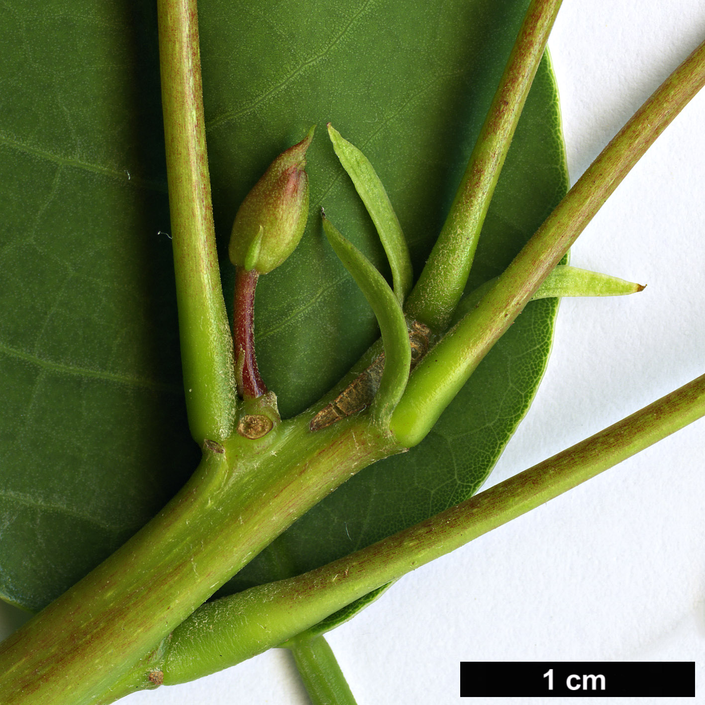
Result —
<instances>
[{"instance_id":1,"label":"rough brown scar on the stem, partly hidden by curved green bract","mask_svg":"<svg viewBox=\"0 0 705 705\"><path fill-rule=\"evenodd\" d=\"M428 326L419 323L419 321L412 322L409 329L409 343L411 345L410 372L429 351L430 338L431 329ZM374 362L364 372L358 374L331 403L324 406L311 419L309 429L312 431L326 429L337 421L347 416L352 416L369 406L379 389L379 381L382 379L383 370L384 352L379 353Z\"/></svg>"}]
</instances>

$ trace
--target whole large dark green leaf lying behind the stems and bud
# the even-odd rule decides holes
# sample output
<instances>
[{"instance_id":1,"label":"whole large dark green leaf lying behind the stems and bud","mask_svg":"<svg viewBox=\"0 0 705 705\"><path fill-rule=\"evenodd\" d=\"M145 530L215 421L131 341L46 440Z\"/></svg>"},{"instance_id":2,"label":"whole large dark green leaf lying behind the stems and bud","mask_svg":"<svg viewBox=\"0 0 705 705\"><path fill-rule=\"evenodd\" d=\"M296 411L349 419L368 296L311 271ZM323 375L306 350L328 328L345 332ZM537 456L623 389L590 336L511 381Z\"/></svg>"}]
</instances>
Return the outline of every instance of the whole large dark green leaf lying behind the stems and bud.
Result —
<instances>
[{"instance_id":1,"label":"whole large dark green leaf lying behind the stems and bud","mask_svg":"<svg viewBox=\"0 0 705 705\"><path fill-rule=\"evenodd\" d=\"M271 160L314 123L331 121L374 164L419 271L526 5L321 0L312 10L202 0L226 300L235 212ZM0 592L36 609L145 522L195 467L197 448L178 392L153 12L127 0L55 0L37 17L24 0L1 31ZM374 224L322 135L307 171L312 209L324 204L389 278ZM471 288L508 264L565 181L544 61ZM555 312L553 300L529 305L421 446L343 486L231 589L318 565L472 494L529 405ZM318 219L263 278L256 316L262 375L285 416L328 391L379 335Z\"/></svg>"}]
</instances>

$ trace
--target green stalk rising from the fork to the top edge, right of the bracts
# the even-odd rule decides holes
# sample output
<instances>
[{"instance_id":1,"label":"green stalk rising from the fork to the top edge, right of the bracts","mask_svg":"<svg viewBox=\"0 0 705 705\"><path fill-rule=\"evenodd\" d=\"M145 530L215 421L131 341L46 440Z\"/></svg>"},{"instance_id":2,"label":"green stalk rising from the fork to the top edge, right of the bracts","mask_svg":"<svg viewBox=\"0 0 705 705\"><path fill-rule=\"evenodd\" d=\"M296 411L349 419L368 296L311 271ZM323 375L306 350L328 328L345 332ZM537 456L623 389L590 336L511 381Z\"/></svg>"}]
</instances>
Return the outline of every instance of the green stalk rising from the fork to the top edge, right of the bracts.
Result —
<instances>
[{"instance_id":1,"label":"green stalk rising from the fork to the top edge, right of the bracts","mask_svg":"<svg viewBox=\"0 0 705 705\"><path fill-rule=\"evenodd\" d=\"M448 327L470 274L482 224L561 0L532 0L439 239L405 312L435 333Z\"/></svg>"}]
</instances>

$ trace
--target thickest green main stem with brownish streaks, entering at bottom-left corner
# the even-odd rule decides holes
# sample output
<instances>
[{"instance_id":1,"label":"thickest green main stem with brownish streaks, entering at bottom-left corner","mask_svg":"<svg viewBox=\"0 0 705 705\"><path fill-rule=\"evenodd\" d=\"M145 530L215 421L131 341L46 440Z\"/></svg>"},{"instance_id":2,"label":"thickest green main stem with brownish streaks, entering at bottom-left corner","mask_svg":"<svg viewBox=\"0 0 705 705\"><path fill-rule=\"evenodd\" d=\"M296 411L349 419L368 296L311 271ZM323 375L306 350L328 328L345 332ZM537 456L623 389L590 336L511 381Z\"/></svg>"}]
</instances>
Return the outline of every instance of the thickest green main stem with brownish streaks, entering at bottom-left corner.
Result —
<instances>
[{"instance_id":1,"label":"thickest green main stem with brownish streaks, entering at bottom-left corner","mask_svg":"<svg viewBox=\"0 0 705 705\"><path fill-rule=\"evenodd\" d=\"M200 469L152 522L1 644L4 704L100 697L298 517L394 452L367 419L315 434L309 420L259 441L207 443Z\"/></svg>"}]
</instances>

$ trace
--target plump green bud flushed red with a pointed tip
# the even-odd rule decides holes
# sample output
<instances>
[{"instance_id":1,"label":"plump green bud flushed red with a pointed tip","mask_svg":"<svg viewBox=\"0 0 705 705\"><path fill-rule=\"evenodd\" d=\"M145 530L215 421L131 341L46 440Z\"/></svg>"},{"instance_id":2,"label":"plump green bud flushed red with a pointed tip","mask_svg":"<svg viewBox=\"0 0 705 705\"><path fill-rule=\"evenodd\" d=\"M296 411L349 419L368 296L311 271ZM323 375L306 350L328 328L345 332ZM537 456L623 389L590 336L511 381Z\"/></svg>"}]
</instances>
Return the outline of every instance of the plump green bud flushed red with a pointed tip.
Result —
<instances>
[{"instance_id":1,"label":"plump green bud flushed red with a pointed tip","mask_svg":"<svg viewBox=\"0 0 705 705\"><path fill-rule=\"evenodd\" d=\"M280 154L247 194L233 223L230 261L266 274L299 244L308 218L306 150L314 128Z\"/></svg>"}]
</instances>

